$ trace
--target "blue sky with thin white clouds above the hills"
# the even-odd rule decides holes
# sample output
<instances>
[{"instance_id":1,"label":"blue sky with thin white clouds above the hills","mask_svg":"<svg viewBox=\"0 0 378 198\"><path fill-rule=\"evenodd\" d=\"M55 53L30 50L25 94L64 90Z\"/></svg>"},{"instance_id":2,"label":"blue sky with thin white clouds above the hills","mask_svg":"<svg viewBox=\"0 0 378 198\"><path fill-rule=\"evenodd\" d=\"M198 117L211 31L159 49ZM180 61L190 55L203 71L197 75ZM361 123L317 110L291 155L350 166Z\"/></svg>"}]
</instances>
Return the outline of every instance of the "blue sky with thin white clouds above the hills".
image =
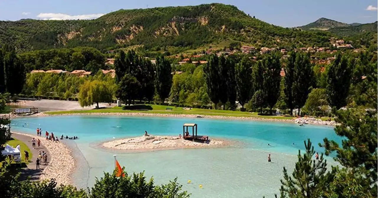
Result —
<instances>
[{"instance_id":1,"label":"blue sky with thin white clouds above the hills","mask_svg":"<svg viewBox=\"0 0 378 198\"><path fill-rule=\"evenodd\" d=\"M185 6L211 0L0 0L0 20L92 19L118 9ZM280 25L296 27L320 17L345 23L378 20L378 0L218 0L237 6L251 16Z\"/></svg>"}]
</instances>

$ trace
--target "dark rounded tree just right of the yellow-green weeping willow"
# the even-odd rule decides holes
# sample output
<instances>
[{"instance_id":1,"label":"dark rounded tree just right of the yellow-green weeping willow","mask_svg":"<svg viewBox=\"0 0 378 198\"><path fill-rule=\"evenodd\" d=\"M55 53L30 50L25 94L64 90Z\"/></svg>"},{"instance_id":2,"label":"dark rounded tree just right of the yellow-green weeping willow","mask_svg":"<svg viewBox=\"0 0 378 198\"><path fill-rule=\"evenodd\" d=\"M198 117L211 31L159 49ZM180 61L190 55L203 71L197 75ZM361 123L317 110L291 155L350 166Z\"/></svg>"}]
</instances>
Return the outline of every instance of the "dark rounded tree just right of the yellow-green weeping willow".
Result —
<instances>
[{"instance_id":1,"label":"dark rounded tree just right of the yellow-green weeping willow","mask_svg":"<svg viewBox=\"0 0 378 198\"><path fill-rule=\"evenodd\" d=\"M130 106L131 101L135 100L138 97L138 91L141 87L141 84L138 80L131 74L125 74L119 83L118 90L116 95L118 98L121 98L124 102L128 101Z\"/></svg>"}]
</instances>

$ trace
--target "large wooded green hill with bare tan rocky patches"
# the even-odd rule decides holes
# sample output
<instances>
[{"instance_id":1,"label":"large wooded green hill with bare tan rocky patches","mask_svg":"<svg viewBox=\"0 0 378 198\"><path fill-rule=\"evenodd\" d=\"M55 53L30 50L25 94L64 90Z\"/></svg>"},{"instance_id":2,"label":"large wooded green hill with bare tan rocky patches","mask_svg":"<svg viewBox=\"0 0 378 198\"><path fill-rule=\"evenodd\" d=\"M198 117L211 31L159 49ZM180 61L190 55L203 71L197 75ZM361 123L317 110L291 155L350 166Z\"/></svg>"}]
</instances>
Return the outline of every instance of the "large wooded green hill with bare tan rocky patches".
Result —
<instances>
[{"instance_id":1,"label":"large wooded green hill with bare tan rocky patches","mask_svg":"<svg viewBox=\"0 0 378 198\"><path fill-rule=\"evenodd\" d=\"M256 47L326 46L331 36L326 32L277 27L235 6L220 3L121 9L95 20L0 21L0 43L11 44L19 51L132 45L158 51L167 46L195 49L235 41Z\"/></svg>"}]
</instances>

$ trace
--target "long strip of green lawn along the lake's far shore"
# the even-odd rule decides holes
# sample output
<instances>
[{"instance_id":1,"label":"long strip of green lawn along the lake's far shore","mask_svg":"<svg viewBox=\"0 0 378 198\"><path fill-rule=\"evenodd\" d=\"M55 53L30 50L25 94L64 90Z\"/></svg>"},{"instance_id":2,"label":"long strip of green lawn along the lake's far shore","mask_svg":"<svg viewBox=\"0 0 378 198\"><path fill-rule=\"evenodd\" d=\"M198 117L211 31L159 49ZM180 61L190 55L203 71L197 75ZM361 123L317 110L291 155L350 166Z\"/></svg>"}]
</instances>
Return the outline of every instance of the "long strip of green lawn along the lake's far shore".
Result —
<instances>
[{"instance_id":1,"label":"long strip of green lawn along the lake's far shore","mask_svg":"<svg viewBox=\"0 0 378 198\"><path fill-rule=\"evenodd\" d=\"M276 118L276 119L292 119L290 116L280 115L257 115L256 112L242 112L242 111L229 111L229 110L214 110L214 109L190 109L185 110L182 107L175 108L174 106L164 105L138 105L140 107L136 110L124 110L122 107L104 108L104 109L91 109L91 110L73 110L73 111L51 111L45 112L45 114L81 114L81 113L130 113L141 112L150 114L199 114L199 115L218 115L218 116L233 116L233 117L256 117L256 118ZM166 110L166 108L172 108L172 110ZM150 109L150 110L141 110Z\"/></svg>"}]
</instances>

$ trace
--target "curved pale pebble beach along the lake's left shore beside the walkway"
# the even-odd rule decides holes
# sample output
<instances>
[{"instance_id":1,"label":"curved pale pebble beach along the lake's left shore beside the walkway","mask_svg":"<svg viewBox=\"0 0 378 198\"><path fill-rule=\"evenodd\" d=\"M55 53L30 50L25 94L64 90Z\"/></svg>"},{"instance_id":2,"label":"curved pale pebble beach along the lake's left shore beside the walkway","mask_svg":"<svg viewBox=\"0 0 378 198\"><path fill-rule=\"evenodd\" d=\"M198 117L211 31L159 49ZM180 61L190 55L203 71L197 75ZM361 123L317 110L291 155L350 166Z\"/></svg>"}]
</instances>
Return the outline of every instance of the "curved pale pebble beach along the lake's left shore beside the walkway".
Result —
<instances>
[{"instance_id":1,"label":"curved pale pebble beach along the lake's left shore beside the walkway","mask_svg":"<svg viewBox=\"0 0 378 198\"><path fill-rule=\"evenodd\" d=\"M15 134L22 134L25 136L29 136L30 138L39 139L42 145L49 151L50 155L50 163L45 170L43 170L42 175L40 176L40 180L45 179L55 179L57 184L73 184L71 181L71 173L75 168L75 160L74 157L71 155L71 150L64 145L62 142L52 142L50 140L46 140L44 137L34 136L31 134L25 133L17 133L12 132ZM32 148L31 148L32 149Z\"/></svg>"}]
</instances>

